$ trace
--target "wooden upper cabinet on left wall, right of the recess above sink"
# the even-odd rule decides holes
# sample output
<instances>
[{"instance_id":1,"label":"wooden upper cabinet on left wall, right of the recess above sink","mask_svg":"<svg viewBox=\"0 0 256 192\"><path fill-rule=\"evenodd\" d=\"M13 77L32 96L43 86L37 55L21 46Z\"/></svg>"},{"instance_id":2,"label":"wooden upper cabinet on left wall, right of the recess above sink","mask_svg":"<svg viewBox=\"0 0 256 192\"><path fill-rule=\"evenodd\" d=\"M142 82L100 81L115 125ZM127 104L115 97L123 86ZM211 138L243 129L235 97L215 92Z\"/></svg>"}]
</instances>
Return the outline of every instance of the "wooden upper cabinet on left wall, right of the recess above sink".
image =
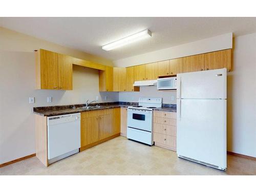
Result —
<instances>
[{"instance_id":1,"label":"wooden upper cabinet on left wall, right of the recess above sink","mask_svg":"<svg viewBox=\"0 0 256 192\"><path fill-rule=\"evenodd\" d=\"M99 91L113 91L113 67L105 66L99 70Z\"/></svg>"}]
</instances>

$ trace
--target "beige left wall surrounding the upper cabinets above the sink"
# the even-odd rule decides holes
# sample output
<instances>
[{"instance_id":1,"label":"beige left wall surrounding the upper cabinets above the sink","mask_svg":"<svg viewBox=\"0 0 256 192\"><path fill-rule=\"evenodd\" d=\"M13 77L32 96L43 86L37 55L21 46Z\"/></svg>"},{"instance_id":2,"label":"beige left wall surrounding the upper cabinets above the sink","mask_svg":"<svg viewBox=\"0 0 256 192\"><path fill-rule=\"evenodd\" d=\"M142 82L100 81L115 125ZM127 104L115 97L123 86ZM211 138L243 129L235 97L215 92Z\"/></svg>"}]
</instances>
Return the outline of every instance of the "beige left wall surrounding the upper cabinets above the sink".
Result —
<instances>
[{"instance_id":1,"label":"beige left wall surrounding the upper cabinets above the sink","mask_svg":"<svg viewBox=\"0 0 256 192\"><path fill-rule=\"evenodd\" d=\"M98 70L73 66L73 91L35 90L33 50L43 48L105 65L112 62L58 46L28 35L0 28L0 164L35 153L33 106L99 102L107 96L118 101L118 93L99 93ZM47 97L52 102L47 103ZM35 103L29 103L35 97Z\"/></svg>"}]
</instances>

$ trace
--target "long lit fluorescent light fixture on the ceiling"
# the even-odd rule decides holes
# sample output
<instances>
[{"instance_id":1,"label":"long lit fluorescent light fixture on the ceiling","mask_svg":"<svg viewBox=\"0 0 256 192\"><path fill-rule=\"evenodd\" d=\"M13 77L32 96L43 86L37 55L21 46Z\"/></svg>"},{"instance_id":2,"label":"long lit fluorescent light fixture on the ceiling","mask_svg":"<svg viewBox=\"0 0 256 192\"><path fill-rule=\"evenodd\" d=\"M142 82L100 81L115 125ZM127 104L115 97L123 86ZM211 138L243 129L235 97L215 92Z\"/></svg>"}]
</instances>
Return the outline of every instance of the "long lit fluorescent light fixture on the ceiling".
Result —
<instances>
[{"instance_id":1,"label":"long lit fluorescent light fixture on the ceiling","mask_svg":"<svg viewBox=\"0 0 256 192\"><path fill-rule=\"evenodd\" d=\"M146 29L146 30L141 31L139 33L135 33L133 35L121 38L119 40L111 42L110 44L102 46L102 49L106 50L106 51L110 51L112 49L116 49L118 47L122 47L124 45L131 44L132 42L135 42L135 41L147 38L147 37L151 37L151 36L152 36L151 31Z\"/></svg>"}]
</instances>

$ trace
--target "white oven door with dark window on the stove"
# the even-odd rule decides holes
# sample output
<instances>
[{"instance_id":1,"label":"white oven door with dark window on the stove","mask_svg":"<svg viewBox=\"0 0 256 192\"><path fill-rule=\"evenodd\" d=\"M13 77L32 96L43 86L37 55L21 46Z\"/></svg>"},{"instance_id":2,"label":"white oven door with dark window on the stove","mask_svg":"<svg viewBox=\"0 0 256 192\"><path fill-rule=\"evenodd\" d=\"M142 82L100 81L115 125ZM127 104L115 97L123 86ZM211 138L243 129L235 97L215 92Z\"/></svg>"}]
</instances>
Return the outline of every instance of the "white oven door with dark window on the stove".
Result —
<instances>
[{"instance_id":1,"label":"white oven door with dark window on the stove","mask_svg":"<svg viewBox=\"0 0 256 192\"><path fill-rule=\"evenodd\" d=\"M127 126L152 132L152 111L128 109Z\"/></svg>"}]
</instances>

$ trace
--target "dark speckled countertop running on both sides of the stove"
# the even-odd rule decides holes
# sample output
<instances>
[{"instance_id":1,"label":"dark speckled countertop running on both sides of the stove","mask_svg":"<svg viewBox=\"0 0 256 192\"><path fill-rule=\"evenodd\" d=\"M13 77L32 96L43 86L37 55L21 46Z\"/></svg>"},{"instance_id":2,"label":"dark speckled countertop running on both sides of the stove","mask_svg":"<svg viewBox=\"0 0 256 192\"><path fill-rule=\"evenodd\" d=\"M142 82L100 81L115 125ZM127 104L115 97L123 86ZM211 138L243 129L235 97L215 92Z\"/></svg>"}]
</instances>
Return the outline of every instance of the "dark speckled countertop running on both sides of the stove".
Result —
<instances>
[{"instance_id":1,"label":"dark speckled countertop running on both sides of the stove","mask_svg":"<svg viewBox=\"0 0 256 192\"><path fill-rule=\"evenodd\" d=\"M57 105L57 106L40 106L33 109L33 113L41 116L56 116L56 115L65 115L72 113L81 113L86 111L94 110L104 110L112 108L127 108L128 106L138 105L136 102L106 102L106 103L94 103L91 106L95 105L105 106L104 108L92 108L92 109L82 109L82 106L85 104L74 104L74 105ZM75 109L73 109L75 106ZM167 112L176 112L176 105L174 104L163 104L162 108L156 108L153 110L157 111L167 111Z\"/></svg>"}]
</instances>

